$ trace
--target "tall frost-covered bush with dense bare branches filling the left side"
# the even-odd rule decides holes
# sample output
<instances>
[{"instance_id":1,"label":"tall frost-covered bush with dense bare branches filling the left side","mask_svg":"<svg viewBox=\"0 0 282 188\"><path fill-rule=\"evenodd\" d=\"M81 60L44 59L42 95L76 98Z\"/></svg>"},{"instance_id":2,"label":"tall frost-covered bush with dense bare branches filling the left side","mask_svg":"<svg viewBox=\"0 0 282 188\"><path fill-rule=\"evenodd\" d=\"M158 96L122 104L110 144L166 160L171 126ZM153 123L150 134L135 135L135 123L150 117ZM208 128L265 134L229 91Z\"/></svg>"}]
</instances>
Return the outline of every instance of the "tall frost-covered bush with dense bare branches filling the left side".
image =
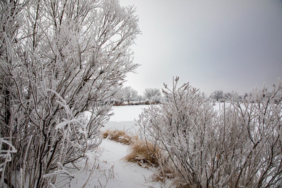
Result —
<instances>
[{"instance_id":1,"label":"tall frost-covered bush with dense bare branches filling the left side","mask_svg":"<svg viewBox=\"0 0 282 188\"><path fill-rule=\"evenodd\" d=\"M54 187L100 145L103 101L138 66L134 12L116 0L1 1L0 187Z\"/></svg>"}]
</instances>

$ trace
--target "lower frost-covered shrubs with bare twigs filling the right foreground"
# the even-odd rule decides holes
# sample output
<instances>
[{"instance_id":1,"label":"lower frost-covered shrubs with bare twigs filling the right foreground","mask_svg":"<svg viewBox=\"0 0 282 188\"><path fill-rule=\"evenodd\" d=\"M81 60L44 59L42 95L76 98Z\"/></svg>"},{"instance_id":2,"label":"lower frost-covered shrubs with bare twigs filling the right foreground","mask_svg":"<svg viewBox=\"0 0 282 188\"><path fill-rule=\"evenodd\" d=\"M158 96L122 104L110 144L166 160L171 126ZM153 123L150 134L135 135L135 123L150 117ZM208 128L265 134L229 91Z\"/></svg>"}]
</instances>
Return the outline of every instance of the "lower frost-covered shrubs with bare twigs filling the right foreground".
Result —
<instances>
[{"instance_id":1,"label":"lower frost-covered shrubs with bare twigs filling the right foreground","mask_svg":"<svg viewBox=\"0 0 282 188\"><path fill-rule=\"evenodd\" d=\"M167 103L146 109L140 135L163 150L160 169L172 166L175 187L281 187L282 86L265 86L215 112L210 98L188 83L172 90Z\"/></svg>"}]
</instances>

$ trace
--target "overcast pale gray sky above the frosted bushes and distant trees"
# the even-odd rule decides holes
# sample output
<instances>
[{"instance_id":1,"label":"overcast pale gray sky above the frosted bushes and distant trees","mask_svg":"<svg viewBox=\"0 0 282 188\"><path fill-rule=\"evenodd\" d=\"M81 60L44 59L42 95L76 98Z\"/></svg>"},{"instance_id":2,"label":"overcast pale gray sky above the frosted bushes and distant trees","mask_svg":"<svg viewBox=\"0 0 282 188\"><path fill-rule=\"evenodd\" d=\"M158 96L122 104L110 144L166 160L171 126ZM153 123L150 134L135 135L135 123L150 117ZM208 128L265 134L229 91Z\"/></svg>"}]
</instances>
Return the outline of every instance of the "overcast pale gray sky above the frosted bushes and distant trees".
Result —
<instances>
[{"instance_id":1,"label":"overcast pale gray sky above the frosted bushes and distant trees","mask_svg":"<svg viewBox=\"0 0 282 188\"><path fill-rule=\"evenodd\" d=\"M282 1L120 0L134 5L142 35L132 46L138 74L126 86L190 82L211 94L240 94L282 78ZM179 84L179 86L180 86Z\"/></svg>"}]
</instances>

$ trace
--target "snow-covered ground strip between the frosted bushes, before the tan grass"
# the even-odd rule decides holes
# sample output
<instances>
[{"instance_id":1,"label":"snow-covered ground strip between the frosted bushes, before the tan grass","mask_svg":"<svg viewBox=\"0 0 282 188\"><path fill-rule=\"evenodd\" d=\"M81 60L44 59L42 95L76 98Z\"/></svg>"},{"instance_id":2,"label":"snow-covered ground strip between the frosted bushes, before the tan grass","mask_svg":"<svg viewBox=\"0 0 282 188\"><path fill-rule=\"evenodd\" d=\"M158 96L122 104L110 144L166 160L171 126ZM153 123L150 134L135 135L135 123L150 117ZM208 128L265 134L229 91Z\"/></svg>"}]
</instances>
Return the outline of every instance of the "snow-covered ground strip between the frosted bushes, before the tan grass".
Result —
<instances>
[{"instance_id":1,"label":"snow-covered ground strip between the frosted bushes, before the tan grass","mask_svg":"<svg viewBox=\"0 0 282 188\"><path fill-rule=\"evenodd\" d=\"M90 181L85 187L121 187L121 188L160 188L160 182L150 181L152 170L145 169L135 163L123 162L120 160L126 155L127 145L104 139L100 145L100 151L103 151L95 170L90 176ZM98 166L99 164L99 166ZM72 187L82 187L89 177L89 169L80 173L72 182ZM149 180L149 181L148 181ZM164 187L164 186L163 186Z\"/></svg>"}]
</instances>

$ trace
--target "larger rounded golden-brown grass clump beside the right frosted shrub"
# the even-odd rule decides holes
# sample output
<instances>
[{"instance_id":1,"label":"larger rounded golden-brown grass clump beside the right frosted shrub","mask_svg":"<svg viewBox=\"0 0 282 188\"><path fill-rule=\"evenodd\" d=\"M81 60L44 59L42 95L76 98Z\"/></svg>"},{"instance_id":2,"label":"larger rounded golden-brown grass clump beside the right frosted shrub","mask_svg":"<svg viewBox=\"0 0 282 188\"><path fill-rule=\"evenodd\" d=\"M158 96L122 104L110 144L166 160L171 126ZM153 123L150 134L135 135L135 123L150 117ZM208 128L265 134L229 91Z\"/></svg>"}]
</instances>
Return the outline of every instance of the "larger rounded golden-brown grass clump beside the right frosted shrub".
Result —
<instances>
[{"instance_id":1,"label":"larger rounded golden-brown grass clump beside the right frosted shrub","mask_svg":"<svg viewBox=\"0 0 282 188\"><path fill-rule=\"evenodd\" d=\"M122 159L127 162L136 162L140 166L144 163L148 163L152 166L159 166L163 160L162 152L160 148L152 142L146 140L137 140L128 149L127 156Z\"/></svg>"}]
</instances>

